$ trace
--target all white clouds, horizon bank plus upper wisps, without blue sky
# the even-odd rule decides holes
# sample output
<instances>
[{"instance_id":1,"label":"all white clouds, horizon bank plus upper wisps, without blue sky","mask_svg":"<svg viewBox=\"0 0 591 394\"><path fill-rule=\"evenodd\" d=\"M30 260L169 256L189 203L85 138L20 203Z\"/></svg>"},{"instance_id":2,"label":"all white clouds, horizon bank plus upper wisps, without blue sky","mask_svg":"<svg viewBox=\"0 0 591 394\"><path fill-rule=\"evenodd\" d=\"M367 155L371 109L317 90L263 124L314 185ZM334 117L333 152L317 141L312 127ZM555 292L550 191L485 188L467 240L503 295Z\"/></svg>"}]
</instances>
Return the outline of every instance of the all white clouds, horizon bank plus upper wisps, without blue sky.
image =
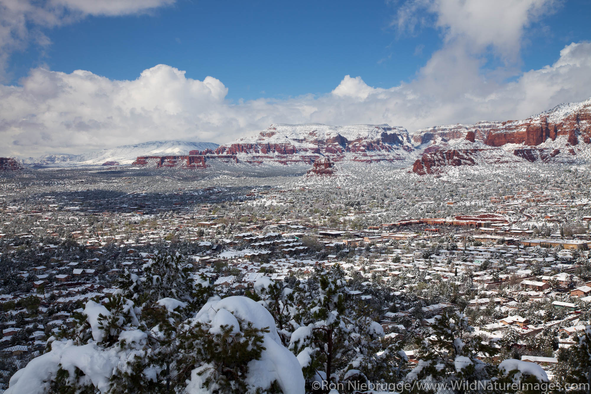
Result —
<instances>
[{"instance_id":1,"label":"all white clouds, horizon bank plus upper wisps, without blue sky","mask_svg":"<svg viewBox=\"0 0 591 394\"><path fill-rule=\"evenodd\" d=\"M145 12L174 0L0 0L2 54L51 27L85 15ZM415 0L399 4L402 31L436 28L442 46L410 82L389 89L346 75L331 92L288 99L226 99L223 81L192 79L158 64L134 80L90 71L32 69L0 85L0 156L82 153L151 140L226 143L271 123L402 125L514 120L591 96L591 43L571 43L537 70L519 71L524 34L557 7L554 0ZM3 13L7 12L7 13ZM43 34L36 40L47 43ZM490 57L504 66L487 69ZM139 71L139 70L138 70Z\"/></svg>"}]
</instances>

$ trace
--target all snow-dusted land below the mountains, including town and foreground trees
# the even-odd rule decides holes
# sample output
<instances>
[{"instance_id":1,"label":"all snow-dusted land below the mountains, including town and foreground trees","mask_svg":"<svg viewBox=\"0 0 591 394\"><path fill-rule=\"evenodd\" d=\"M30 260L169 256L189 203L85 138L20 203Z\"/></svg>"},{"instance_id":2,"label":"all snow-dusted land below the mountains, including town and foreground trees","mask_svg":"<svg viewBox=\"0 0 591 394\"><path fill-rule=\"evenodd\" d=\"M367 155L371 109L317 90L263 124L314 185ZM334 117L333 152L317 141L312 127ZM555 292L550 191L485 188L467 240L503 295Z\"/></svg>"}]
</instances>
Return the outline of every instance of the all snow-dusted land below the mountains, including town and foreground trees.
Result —
<instances>
[{"instance_id":1,"label":"all snow-dusted land below the mountains, including town and foreground trees","mask_svg":"<svg viewBox=\"0 0 591 394\"><path fill-rule=\"evenodd\" d=\"M2 389L584 392L586 166L208 164L0 179Z\"/></svg>"}]
</instances>

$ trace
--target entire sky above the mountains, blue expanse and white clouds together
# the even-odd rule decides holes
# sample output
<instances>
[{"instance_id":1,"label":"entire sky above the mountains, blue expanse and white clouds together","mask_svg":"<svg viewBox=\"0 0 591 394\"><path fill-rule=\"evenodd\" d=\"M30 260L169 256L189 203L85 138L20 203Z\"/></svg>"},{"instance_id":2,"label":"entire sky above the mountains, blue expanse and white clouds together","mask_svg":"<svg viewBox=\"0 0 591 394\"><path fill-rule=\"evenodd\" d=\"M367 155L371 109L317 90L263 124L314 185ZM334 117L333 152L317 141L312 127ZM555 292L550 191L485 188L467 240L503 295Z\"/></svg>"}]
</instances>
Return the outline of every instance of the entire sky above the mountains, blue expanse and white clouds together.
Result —
<instances>
[{"instance_id":1,"label":"entire sky above the mountains, blue expanse and white clouds together","mask_svg":"<svg viewBox=\"0 0 591 394\"><path fill-rule=\"evenodd\" d=\"M0 155L525 118L591 97L589 15L583 0L0 0Z\"/></svg>"}]
</instances>

